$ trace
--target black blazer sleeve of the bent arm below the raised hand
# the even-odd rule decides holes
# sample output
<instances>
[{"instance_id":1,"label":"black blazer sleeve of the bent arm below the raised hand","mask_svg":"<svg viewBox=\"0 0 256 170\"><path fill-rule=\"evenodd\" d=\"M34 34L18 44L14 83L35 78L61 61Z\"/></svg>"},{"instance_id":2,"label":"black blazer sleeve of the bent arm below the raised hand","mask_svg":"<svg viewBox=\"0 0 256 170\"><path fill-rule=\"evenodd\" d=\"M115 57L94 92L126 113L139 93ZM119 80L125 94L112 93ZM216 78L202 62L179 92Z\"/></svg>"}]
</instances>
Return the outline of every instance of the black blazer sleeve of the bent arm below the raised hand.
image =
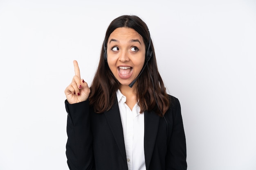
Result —
<instances>
[{"instance_id":1,"label":"black blazer sleeve of the bent arm below the raised hand","mask_svg":"<svg viewBox=\"0 0 256 170\"><path fill-rule=\"evenodd\" d=\"M70 170L94 170L89 101L69 104L67 111L67 165Z\"/></svg>"}]
</instances>

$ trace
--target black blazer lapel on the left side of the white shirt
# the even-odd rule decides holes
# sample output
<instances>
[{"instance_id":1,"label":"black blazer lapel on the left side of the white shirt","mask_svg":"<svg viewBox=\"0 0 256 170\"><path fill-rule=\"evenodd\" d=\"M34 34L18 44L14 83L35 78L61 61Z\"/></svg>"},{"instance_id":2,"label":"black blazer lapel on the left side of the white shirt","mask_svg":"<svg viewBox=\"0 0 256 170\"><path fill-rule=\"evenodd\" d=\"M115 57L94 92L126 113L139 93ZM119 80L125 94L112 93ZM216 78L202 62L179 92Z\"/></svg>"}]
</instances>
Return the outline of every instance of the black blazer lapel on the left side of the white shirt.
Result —
<instances>
[{"instance_id":1,"label":"black blazer lapel on the left side of the white shirt","mask_svg":"<svg viewBox=\"0 0 256 170\"><path fill-rule=\"evenodd\" d=\"M126 160L123 126L121 122L117 100L113 107L109 111L104 112L104 114L106 116L110 129L114 135L115 141L117 142L117 146L121 152L121 155L124 158L124 160Z\"/></svg>"}]
</instances>

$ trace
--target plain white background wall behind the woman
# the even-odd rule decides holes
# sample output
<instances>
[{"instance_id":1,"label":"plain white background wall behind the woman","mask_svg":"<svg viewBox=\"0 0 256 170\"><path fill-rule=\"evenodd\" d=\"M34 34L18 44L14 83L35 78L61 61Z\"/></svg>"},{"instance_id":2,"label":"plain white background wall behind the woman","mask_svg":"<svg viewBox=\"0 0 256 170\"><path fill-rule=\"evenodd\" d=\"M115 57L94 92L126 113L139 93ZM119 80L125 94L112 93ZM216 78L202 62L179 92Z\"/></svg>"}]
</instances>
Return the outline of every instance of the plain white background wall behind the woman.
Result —
<instances>
[{"instance_id":1,"label":"plain white background wall behind the woman","mask_svg":"<svg viewBox=\"0 0 256 170\"><path fill-rule=\"evenodd\" d=\"M68 169L72 61L90 84L124 14L148 25L181 102L188 170L256 170L255 0L0 0L0 170Z\"/></svg>"}]
</instances>

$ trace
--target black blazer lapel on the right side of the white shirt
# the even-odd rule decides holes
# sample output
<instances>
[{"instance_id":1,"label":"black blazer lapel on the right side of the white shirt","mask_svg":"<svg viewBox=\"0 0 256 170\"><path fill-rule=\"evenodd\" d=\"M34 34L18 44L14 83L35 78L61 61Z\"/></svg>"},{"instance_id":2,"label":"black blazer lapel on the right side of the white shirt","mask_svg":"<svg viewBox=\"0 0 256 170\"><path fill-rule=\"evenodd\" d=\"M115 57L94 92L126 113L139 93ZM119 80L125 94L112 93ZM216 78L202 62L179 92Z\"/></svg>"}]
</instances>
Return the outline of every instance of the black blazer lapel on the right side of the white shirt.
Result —
<instances>
[{"instance_id":1,"label":"black blazer lapel on the right side of the white shirt","mask_svg":"<svg viewBox=\"0 0 256 170\"><path fill-rule=\"evenodd\" d=\"M153 154L155 140L157 137L158 125L160 117L154 111L144 112L144 153L146 169L149 169L150 160Z\"/></svg>"}]
</instances>

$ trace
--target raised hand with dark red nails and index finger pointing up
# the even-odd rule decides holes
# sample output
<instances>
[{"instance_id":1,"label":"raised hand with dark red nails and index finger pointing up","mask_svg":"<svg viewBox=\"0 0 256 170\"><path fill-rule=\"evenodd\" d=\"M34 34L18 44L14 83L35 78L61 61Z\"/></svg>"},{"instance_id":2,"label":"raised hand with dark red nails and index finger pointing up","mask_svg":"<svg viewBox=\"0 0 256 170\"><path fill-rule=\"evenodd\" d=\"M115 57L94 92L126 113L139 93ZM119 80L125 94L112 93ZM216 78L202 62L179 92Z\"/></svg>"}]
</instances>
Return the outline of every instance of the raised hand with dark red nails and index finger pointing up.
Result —
<instances>
[{"instance_id":1,"label":"raised hand with dark red nails and index finger pointing up","mask_svg":"<svg viewBox=\"0 0 256 170\"><path fill-rule=\"evenodd\" d=\"M90 94L88 84L80 77L80 70L77 61L74 60L73 63L75 76L73 77L70 85L65 89L65 95L70 104L83 102L88 99Z\"/></svg>"}]
</instances>

